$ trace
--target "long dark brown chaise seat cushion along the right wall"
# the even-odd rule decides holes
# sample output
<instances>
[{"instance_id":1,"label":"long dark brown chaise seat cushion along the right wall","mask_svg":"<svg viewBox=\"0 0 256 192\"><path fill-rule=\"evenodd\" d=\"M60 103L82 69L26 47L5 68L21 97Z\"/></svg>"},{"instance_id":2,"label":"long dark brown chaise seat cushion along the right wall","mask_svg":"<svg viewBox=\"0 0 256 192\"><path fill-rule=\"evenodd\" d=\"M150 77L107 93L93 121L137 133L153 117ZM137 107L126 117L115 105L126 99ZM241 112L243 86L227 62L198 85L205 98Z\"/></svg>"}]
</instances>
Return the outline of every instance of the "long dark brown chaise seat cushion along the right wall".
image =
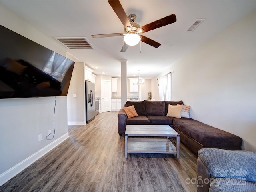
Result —
<instances>
[{"instance_id":1,"label":"long dark brown chaise seat cushion along the right wall","mask_svg":"<svg viewBox=\"0 0 256 192\"><path fill-rule=\"evenodd\" d=\"M240 148L242 139L234 134L206 125L197 120L174 119L173 126L202 144L205 148Z\"/></svg>"}]
</instances>

